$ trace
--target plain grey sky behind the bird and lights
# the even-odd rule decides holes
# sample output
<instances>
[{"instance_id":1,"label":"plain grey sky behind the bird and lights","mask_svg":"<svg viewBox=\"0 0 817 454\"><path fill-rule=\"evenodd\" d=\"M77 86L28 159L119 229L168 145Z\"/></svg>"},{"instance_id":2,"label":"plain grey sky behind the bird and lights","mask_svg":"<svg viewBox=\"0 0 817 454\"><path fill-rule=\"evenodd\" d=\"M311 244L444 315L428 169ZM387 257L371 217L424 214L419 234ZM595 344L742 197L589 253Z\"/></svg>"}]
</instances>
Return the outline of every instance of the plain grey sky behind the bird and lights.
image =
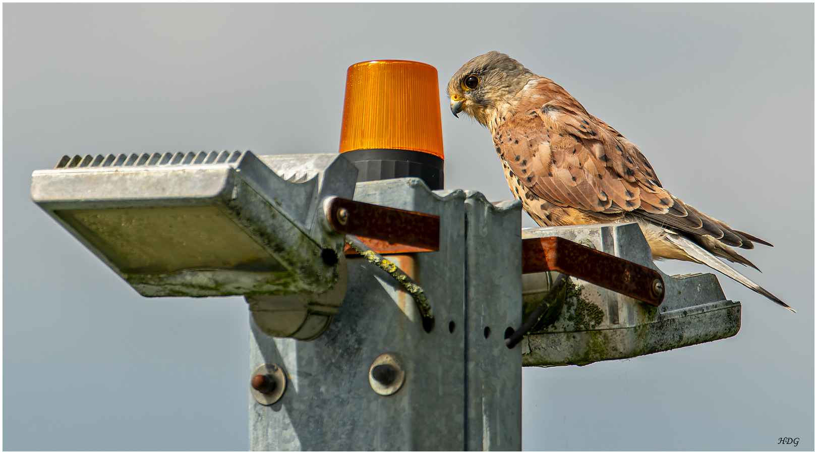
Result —
<instances>
[{"instance_id":1,"label":"plain grey sky behind the bird and lights","mask_svg":"<svg viewBox=\"0 0 817 454\"><path fill-rule=\"evenodd\" d=\"M63 154L337 152L346 68L440 74L446 188L511 198L444 87L502 51L632 140L663 185L774 243L727 340L525 368L526 450L814 444L813 4L4 4L3 449L248 448L240 298L146 299L29 198ZM525 226L534 223L525 216ZM659 264L669 274L703 266ZM780 446L778 438L800 438Z\"/></svg>"}]
</instances>

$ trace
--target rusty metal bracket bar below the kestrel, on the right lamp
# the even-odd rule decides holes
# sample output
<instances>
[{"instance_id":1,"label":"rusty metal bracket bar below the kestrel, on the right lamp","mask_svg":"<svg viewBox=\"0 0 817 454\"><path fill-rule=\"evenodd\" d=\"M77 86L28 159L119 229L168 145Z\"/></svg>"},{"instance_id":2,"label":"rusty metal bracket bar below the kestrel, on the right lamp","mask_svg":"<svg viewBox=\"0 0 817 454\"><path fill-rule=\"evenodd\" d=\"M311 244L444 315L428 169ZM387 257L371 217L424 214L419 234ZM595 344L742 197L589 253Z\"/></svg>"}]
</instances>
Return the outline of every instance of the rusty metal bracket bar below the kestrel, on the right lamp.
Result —
<instances>
[{"instance_id":1,"label":"rusty metal bracket bar below the kestrel, on the right lamp","mask_svg":"<svg viewBox=\"0 0 817 454\"><path fill-rule=\"evenodd\" d=\"M569 274L649 305L657 306L663 301L663 278L654 269L565 238L522 240L522 274L543 271Z\"/></svg>"}]
</instances>

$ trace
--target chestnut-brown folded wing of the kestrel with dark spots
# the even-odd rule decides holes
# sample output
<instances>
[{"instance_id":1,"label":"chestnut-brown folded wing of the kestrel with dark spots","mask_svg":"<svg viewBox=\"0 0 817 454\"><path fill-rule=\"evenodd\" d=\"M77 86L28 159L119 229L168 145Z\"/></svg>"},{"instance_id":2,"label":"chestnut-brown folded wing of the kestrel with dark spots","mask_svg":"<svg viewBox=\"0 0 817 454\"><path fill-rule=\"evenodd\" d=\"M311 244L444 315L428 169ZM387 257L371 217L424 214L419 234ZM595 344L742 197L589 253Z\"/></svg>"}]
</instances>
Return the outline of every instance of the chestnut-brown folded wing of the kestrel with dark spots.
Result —
<instances>
[{"instance_id":1,"label":"chestnut-brown folded wing of the kestrel with dark spots","mask_svg":"<svg viewBox=\"0 0 817 454\"><path fill-rule=\"evenodd\" d=\"M766 243L673 197L635 145L556 83L541 81L534 88L538 96L529 96L533 102L520 101L517 113L494 135L500 156L538 197L601 219L630 212L734 247L752 248L752 240Z\"/></svg>"}]
</instances>

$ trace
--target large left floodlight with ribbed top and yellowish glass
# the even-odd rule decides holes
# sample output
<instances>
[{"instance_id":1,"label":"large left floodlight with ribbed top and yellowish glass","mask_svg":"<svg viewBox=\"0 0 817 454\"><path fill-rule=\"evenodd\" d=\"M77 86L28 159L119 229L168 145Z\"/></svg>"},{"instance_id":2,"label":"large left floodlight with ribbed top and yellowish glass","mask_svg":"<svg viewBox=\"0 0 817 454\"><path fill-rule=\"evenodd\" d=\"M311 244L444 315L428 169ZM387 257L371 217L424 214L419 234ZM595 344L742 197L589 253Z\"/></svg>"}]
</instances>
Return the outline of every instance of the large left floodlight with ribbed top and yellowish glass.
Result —
<instances>
[{"instance_id":1,"label":"large left floodlight with ribbed top and yellowish glass","mask_svg":"<svg viewBox=\"0 0 817 454\"><path fill-rule=\"evenodd\" d=\"M31 196L143 296L319 294L344 247L320 201L351 198L356 171L331 154L65 156Z\"/></svg>"}]
</instances>

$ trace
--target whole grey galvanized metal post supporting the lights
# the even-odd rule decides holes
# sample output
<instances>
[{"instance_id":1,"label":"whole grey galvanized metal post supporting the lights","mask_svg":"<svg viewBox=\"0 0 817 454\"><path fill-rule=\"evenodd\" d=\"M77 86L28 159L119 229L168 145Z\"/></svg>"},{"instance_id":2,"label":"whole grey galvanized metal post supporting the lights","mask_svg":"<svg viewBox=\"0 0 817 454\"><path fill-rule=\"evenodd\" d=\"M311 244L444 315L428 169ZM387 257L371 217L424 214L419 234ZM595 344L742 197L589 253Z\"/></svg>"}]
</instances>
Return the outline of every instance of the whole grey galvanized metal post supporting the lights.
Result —
<instances>
[{"instance_id":1,"label":"whole grey galvanized metal post supporting the lights","mask_svg":"<svg viewBox=\"0 0 817 454\"><path fill-rule=\"evenodd\" d=\"M288 388L272 405L251 398L250 449L519 450L521 352L504 334L521 318L520 204L416 178L359 183L355 200L440 216L440 251L389 256L424 287L435 327L363 258L347 260L323 336L274 338L251 321L250 367L279 365ZM390 395L372 378L384 354L404 380Z\"/></svg>"}]
</instances>

